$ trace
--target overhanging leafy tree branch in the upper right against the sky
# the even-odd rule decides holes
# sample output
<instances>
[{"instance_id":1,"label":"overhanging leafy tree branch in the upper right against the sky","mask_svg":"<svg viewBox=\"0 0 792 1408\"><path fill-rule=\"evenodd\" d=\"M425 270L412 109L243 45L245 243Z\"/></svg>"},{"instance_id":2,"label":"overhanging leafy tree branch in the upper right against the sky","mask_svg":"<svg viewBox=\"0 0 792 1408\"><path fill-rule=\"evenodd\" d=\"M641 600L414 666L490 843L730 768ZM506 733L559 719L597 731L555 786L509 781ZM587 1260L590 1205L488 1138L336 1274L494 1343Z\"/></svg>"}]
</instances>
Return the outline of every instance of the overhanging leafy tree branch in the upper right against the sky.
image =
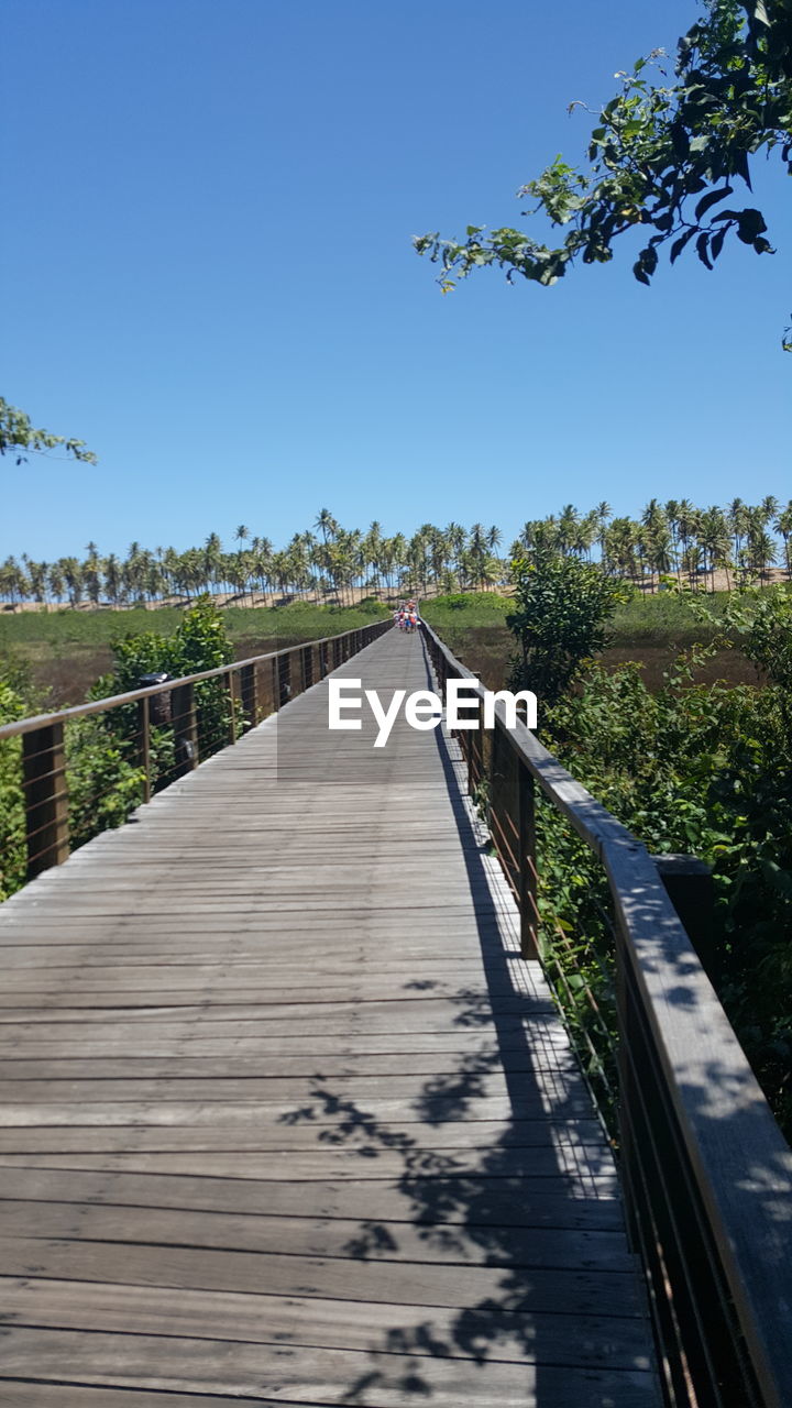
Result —
<instances>
[{"instance_id":1,"label":"overhanging leafy tree branch in the upper right against the sky","mask_svg":"<svg viewBox=\"0 0 792 1408\"><path fill-rule=\"evenodd\" d=\"M792 175L792 0L705 0L702 18L679 39L674 82L650 75L662 58L654 51L631 73L619 73L621 90L598 114L588 146L588 169L561 156L519 191L536 200L554 228L557 246L524 231L468 225L465 239L427 234L419 253L441 265L444 293L475 269L496 265L550 286L575 262L606 263L629 230L647 242L633 265L648 284L660 249L674 263L688 245L712 269L729 237L755 253L772 253L764 215L753 203L751 158L778 152ZM667 75L658 66L658 75ZM581 104L571 104L576 107ZM784 346L792 351L791 332Z\"/></svg>"}]
</instances>

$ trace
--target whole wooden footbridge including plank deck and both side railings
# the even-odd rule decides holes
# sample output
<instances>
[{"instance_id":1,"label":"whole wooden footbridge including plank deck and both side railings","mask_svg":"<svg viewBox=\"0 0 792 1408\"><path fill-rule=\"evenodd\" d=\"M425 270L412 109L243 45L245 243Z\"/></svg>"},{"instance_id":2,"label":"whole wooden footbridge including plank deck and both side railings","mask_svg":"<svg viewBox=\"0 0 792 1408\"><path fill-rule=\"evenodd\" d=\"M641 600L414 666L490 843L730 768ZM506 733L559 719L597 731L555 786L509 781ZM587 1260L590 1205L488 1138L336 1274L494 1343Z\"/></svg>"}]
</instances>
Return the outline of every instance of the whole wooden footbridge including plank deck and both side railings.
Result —
<instances>
[{"instance_id":1,"label":"whole wooden footbridge including plank deck and both side railings","mask_svg":"<svg viewBox=\"0 0 792 1408\"><path fill-rule=\"evenodd\" d=\"M0 729L0 1404L792 1402L789 1150L651 859L502 705L327 727L328 676L450 674L376 625L104 701L149 800L70 855L72 715ZM610 1073L548 981L540 796L613 900Z\"/></svg>"}]
</instances>

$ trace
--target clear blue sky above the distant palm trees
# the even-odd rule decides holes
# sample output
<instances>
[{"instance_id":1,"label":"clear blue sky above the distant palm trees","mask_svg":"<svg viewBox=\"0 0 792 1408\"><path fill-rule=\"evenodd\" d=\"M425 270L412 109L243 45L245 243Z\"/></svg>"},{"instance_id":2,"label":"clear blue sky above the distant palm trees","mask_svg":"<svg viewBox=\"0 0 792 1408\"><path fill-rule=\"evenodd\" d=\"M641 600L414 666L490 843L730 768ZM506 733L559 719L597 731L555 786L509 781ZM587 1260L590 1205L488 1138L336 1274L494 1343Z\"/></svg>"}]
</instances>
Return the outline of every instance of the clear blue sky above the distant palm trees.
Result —
<instances>
[{"instance_id":1,"label":"clear blue sky above the distant palm trees","mask_svg":"<svg viewBox=\"0 0 792 1408\"><path fill-rule=\"evenodd\" d=\"M237 524L496 522L792 494L774 256L450 297L410 237L517 224L693 0L4 0L0 390L99 467L1 465L0 556ZM772 177L772 179L771 179Z\"/></svg>"}]
</instances>

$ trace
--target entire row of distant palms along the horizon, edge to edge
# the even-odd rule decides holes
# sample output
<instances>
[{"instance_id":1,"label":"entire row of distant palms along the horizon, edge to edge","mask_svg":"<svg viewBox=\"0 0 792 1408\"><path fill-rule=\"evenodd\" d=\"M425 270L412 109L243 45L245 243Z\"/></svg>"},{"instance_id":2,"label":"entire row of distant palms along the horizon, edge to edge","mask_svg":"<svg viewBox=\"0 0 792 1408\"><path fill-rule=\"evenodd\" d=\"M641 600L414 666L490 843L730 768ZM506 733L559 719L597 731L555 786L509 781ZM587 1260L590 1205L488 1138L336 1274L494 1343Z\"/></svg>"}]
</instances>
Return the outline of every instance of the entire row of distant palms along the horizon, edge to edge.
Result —
<instances>
[{"instance_id":1,"label":"entire row of distant palms along the horizon, edge to edge","mask_svg":"<svg viewBox=\"0 0 792 1408\"><path fill-rule=\"evenodd\" d=\"M256 594L278 594L351 604L361 593L483 590L509 577L507 560L497 556L500 529L482 524L469 529L423 524L412 538L389 538L378 522L366 532L342 528L323 508L313 528L295 534L282 549L251 535L245 524L234 542L224 551L220 536L210 534L203 546L186 552L132 542L124 559L101 556L89 542L83 559L52 563L23 553L0 563L0 600L124 605L210 591L249 603ZM526 522L509 556L541 551L596 558L606 572L651 590L664 576L714 589L716 572L724 572L731 587L764 580L776 563L792 579L792 500L785 508L774 497L755 505L734 498L727 508L696 508L689 498L665 504L651 498L637 520L613 517L607 503L588 513L567 504L559 514Z\"/></svg>"}]
</instances>

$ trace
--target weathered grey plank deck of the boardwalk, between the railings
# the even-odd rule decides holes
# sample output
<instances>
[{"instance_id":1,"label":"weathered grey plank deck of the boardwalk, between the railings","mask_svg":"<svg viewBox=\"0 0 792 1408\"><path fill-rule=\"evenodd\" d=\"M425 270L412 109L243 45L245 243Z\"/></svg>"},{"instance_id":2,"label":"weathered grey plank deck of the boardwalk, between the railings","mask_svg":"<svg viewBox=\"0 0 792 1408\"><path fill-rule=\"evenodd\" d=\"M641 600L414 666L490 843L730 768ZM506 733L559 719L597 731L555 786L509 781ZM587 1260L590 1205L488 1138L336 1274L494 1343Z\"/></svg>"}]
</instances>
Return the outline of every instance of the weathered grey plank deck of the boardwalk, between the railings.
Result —
<instances>
[{"instance_id":1,"label":"weathered grey plank deck of the boardwalk, between the railings","mask_svg":"<svg viewBox=\"0 0 792 1408\"><path fill-rule=\"evenodd\" d=\"M657 1404L452 746L373 736L318 684L0 910L3 1408Z\"/></svg>"}]
</instances>

